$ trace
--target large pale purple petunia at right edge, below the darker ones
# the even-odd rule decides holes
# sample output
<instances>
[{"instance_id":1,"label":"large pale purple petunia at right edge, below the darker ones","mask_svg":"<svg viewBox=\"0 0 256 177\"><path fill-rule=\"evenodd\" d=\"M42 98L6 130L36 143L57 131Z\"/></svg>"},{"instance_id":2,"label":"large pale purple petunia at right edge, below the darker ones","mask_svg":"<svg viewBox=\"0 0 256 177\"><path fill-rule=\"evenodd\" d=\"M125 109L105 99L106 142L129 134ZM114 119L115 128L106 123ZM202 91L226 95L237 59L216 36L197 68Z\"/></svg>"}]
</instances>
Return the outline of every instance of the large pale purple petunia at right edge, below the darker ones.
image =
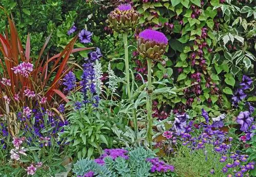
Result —
<instances>
[{"instance_id":1,"label":"large pale purple petunia at right edge, below the darker ones","mask_svg":"<svg viewBox=\"0 0 256 177\"><path fill-rule=\"evenodd\" d=\"M253 122L253 118L250 117L250 112L240 112L237 117L237 123L241 125L241 131L247 131L251 123Z\"/></svg>"}]
</instances>

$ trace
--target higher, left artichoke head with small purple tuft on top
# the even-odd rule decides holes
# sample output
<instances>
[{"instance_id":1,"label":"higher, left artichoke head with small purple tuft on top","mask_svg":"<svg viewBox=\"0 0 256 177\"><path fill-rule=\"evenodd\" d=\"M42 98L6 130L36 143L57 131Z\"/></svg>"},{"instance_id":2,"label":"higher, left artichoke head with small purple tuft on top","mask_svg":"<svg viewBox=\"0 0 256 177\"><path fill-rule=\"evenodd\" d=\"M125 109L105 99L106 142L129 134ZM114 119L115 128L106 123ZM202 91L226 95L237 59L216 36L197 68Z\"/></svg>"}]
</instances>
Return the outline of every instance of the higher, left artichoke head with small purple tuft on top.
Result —
<instances>
[{"instance_id":1,"label":"higher, left artichoke head with small purple tuft on top","mask_svg":"<svg viewBox=\"0 0 256 177\"><path fill-rule=\"evenodd\" d=\"M109 27L119 33L130 32L138 24L139 14L130 4L123 4L110 12L106 22Z\"/></svg>"}]
</instances>

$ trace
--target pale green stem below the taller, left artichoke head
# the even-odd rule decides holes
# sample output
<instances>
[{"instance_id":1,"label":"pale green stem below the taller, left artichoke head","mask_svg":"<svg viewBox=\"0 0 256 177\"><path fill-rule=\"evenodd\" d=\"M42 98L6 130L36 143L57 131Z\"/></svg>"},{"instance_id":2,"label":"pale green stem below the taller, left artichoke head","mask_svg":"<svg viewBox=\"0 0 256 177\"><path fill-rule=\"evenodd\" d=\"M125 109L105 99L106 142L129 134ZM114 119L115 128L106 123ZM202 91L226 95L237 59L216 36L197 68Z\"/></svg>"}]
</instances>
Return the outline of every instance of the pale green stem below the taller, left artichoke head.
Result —
<instances>
[{"instance_id":1,"label":"pale green stem below the taller, left artichoke head","mask_svg":"<svg viewBox=\"0 0 256 177\"><path fill-rule=\"evenodd\" d=\"M130 71L129 71L127 33L123 33L123 45L124 45L124 62L125 62L125 74L126 74L126 90L127 90L128 98L130 99L131 90L130 90Z\"/></svg>"}]
</instances>

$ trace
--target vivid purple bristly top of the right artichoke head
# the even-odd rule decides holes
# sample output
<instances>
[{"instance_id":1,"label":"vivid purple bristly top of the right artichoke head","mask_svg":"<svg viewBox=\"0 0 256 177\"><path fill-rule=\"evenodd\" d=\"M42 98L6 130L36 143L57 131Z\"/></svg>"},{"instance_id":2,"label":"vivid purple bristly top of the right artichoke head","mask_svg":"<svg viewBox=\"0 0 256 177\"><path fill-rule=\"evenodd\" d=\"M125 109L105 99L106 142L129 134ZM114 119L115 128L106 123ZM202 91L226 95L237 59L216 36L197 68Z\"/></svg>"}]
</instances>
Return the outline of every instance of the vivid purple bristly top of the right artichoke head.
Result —
<instances>
[{"instance_id":1,"label":"vivid purple bristly top of the right artichoke head","mask_svg":"<svg viewBox=\"0 0 256 177\"><path fill-rule=\"evenodd\" d=\"M163 33L155 30L146 29L139 34L139 37L145 40L155 41L156 43L164 43L165 45L168 43L167 37Z\"/></svg>"}]
</instances>

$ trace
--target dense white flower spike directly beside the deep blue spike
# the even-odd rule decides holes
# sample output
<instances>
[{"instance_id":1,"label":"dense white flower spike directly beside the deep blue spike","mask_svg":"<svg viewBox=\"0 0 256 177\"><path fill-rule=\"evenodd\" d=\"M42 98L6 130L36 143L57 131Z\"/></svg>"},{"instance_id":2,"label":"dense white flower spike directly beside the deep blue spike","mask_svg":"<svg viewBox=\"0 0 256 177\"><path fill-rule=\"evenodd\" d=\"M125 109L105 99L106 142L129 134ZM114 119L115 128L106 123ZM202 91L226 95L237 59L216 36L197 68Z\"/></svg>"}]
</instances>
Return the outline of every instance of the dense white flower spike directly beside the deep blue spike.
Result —
<instances>
[{"instance_id":1,"label":"dense white flower spike directly beside the deep blue spike","mask_svg":"<svg viewBox=\"0 0 256 177\"><path fill-rule=\"evenodd\" d=\"M93 82L95 83L96 94L99 96L102 92L103 82L101 81L101 78L102 78L101 63L98 60L96 60L96 62L95 62L95 65L93 67L93 71L94 71Z\"/></svg>"}]
</instances>

